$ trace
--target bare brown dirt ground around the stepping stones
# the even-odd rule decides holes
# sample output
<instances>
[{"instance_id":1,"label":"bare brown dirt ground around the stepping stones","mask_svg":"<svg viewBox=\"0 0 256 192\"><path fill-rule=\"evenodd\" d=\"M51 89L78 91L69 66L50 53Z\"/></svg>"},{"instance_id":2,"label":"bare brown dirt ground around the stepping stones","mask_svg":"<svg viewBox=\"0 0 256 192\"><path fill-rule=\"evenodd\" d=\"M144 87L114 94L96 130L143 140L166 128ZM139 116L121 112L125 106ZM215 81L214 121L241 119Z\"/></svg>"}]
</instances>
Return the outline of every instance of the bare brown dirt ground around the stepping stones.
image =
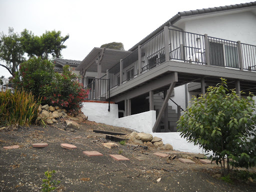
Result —
<instances>
[{"instance_id":1,"label":"bare brown dirt ground around the stepping stones","mask_svg":"<svg viewBox=\"0 0 256 192\"><path fill-rule=\"evenodd\" d=\"M175 158L154 155L155 150L119 145L108 149L104 134L93 129L129 133L126 128L91 121L81 123L76 132L63 130L63 123L47 127L30 126L16 131L0 131L0 191L40 191L46 170L55 170L53 180L60 180L58 191L256 191L256 183L226 183L212 177L220 173L216 164L184 164ZM80 138L73 138L81 136ZM44 148L32 143L47 142ZM60 143L77 146L68 150ZM17 149L3 146L18 144ZM96 150L103 156L82 153ZM166 151L168 152L168 151ZM117 161L109 154L121 154L129 161ZM135 157L144 156L139 161ZM157 182L157 179L160 181Z\"/></svg>"}]
</instances>

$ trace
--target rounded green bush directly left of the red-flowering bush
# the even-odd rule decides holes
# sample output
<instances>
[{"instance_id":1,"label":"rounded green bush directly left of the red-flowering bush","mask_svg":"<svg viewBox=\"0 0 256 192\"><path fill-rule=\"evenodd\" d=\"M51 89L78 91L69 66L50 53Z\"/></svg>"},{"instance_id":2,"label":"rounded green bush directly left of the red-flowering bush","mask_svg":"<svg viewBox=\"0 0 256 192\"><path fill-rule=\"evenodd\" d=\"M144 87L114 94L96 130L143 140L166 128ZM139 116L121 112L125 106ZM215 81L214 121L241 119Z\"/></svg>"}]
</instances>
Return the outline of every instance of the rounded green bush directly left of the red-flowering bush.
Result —
<instances>
[{"instance_id":1,"label":"rounded green bush directly left of the red-flowering bush","mask_svg":"<svg viewBox=\"0 0 256 192\"><path fill-rule=\"evenodd\" d=\"M12 82L17 88L31 91L36 97L40 95L40 87L50 84L54 77L54 64L40 57L31 57L19 65Z\"/></svg>"}]
</instances>

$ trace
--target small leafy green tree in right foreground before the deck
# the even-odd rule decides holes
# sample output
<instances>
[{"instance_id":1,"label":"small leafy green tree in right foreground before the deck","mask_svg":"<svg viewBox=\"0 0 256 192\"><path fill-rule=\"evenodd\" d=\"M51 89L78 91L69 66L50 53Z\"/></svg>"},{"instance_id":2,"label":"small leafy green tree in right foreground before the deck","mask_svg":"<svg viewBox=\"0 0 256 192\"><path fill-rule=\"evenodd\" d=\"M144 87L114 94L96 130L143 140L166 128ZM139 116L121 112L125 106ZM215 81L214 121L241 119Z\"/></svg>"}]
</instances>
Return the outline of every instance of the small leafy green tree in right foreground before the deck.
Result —
<instances>
[{"instance_id":1,"label":"small leafy green tree in right foreground before the deck","mask_svg":"<svg viewBox=\"0 0 256 192\"><path fill-rule=\"evenodd\" d=\"M256 164L252 96L238 96L234 89L226 88L226 80L221 78L221 83L209 86L205 95L194 97L178 120L180 135L206 152L212 151L210 158L220 163L223 175L229 173L230 166L248 168Z\"/></svg>"}]
</instances>

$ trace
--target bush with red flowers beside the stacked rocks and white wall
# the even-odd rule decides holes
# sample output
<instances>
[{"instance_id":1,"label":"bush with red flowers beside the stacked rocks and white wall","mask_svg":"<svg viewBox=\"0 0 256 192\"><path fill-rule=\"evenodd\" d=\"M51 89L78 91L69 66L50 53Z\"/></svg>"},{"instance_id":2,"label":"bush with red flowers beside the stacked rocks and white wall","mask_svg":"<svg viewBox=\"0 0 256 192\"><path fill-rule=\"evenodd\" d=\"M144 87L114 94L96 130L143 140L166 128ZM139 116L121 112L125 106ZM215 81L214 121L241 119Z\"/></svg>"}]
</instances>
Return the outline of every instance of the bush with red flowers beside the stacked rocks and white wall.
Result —
<instances>
[{"instance_id":1,"label":"bush with red flowers beside the stacked rocks and white wall","mask_svg":"<svg viewBox=\"0 0 256 192\"><path fill-rule=\"evenodd\" d=\"M77 75L68 69L68 65L63 66L63 72L55 73L49 85L40 87L42 102L52 106L62 106L69 112L78 111L87 98L89 90L84 89L83 84L76 79Z\"/></svg>"}]
</instances>

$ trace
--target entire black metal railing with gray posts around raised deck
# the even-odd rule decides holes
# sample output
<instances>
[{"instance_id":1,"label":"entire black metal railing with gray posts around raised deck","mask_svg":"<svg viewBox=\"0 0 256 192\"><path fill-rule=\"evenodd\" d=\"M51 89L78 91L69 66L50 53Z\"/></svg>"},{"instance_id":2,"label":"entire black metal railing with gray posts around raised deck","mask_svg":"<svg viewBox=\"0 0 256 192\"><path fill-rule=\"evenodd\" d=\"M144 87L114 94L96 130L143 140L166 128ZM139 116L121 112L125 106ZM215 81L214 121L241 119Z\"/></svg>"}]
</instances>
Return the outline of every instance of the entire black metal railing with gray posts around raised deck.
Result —
<instances>
[{"instance_id":1,"label":"entire black metal railing with gray posts around raised deck","mask_svg":"<svg viewBox=\"0 0 256 192\"><path fill-rule=\"evenodd\" d=\"M166 60L256 71L256 46L164 27L109 69L110 88Z\"/></svg>"}]
</instances>

